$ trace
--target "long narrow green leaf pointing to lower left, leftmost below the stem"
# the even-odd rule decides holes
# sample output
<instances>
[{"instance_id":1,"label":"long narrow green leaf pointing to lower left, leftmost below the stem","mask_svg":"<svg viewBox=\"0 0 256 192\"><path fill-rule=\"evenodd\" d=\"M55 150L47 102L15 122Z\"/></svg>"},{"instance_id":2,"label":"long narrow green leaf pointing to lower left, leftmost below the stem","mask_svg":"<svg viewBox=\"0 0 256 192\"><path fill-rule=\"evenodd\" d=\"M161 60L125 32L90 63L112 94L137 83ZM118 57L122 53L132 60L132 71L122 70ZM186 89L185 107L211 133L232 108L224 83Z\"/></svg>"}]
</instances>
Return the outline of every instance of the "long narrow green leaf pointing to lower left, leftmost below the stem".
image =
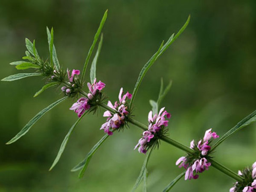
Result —
<instances>
[{"instance_id":1,"label":"long narrow green leaf pointing to lower left, leftmost below the stem","mask_svg":"<svg viewBox=\"0 0 256 192\"><path fill-rule=\"evenodd\" d=\"M11 140L9 140L6 145L9 145L11 143L14 143L15 141L17 141L18 139L20 139L20 137L22 137L23 135L25 135L29 129L48 111L50 111L52 108L54 108L56 105L60 104L61 102L63 102L64 100L66 100L68 97L64 97L59 99L58 101L52 103L51 105L49 105L47 108L44 108L42 111L40 111L39 113L37 113L24 127L23 129L15 136L13 137Z\"/></svg>"}]
</instances>

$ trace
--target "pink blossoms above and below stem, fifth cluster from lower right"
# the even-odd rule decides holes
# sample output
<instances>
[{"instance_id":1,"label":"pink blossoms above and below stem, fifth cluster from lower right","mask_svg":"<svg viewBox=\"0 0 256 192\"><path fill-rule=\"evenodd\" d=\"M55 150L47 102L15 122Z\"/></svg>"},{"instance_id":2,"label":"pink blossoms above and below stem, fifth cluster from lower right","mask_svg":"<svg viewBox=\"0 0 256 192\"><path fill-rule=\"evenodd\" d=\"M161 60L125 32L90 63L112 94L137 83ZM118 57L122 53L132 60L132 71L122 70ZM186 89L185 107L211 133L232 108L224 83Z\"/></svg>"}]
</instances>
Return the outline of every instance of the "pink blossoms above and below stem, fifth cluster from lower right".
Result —
<instances>
[{"instance_id":1,"label":"pink blossoms above and below stem, fifth cluster from lower right","mask_svg":"<svg viewBox=\"0 0 256 192\"><path fill-rule=\"evenodd\" d=\"M93 99L97 90L101 91L105 87L105 83L102 83L102 81L97 82L96 79L94 79L93 84L87 83L87 86L90 92L87 94L87 98L81 97L70 108L70 110L74 110L79 117L81 117L86 110L90 109L89 101Z\"/></svg>"}]
</instances>

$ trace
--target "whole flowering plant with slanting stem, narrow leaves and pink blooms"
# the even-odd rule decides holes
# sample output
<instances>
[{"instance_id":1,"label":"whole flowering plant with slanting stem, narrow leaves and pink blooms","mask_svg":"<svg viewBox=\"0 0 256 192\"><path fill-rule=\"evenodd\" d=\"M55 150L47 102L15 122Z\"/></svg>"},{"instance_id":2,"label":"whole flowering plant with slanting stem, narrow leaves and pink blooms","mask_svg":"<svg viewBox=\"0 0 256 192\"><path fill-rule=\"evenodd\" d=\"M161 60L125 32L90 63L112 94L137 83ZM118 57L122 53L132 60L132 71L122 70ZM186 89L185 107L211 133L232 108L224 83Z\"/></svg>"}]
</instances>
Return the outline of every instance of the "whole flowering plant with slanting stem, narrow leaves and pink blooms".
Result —
<instances>
[{"instance_id":1,"label":"whole flowering plant with slanting stem, narrow leaves and pink blooms","mask_svg":"<svg viewBox=\"0 0 256 192\"><path fill-rule=\"evenodd\" d=\"M134 188L132 189L133 191L137 189L142 180L143 191L146 191L147 164L150 154L152 153L152 151L154 151L154 148L160 146L160 141L164 141L186 152L186 156L180 157L176 162L176 165L178 165L179 167L183 167L185 171L181 173L178 177L176 177L171 183L169 183L166 188L163 189L164 192L169 191L172 186L174 186L175 183L177 183L177 181L184 175L185 180L197 179L199 176L198 173L202 173L205 170L208 170L211 166L236 180L236 183L234 183L234 186L230 189L230 192L256 192L256 163L254 163L253 166L245 168L243 171L239 171L239 173L236 174L227 167L216 162L212 156L212 152L215 151L218 145L220 145L224 140L239 131L241 128L244 128L250 123L256 121L256 111L242 119L236 126L231 128L230 131L224 134L220 139L218 139L219 136L215 132L213 132L212 129L209 129L205 132L203 139L198 141L192 140L192 142L190 143L190 147L187 147L181 143L178 143L175 140L172 140L170 137L167 137L168 122L171 118L171 114L167 112L169 111L168 109L163 107L159 110L159 108L164 96L166 96L166 93L169 91L172 85L172 81L170 81L166 88L164 88L162 80L160 85L160 93L157 101L150 100L152 111L148 113L148 125L144 125L143 123L138 122L137 120L135 120L136 117L131 115L131 109L133 108L134 99L137 95L137 91L145 74L154 64L154 62L160 57L160 55L162 55L163 52L165 52L166 49L168 49L168 47L181 35L181 33L183 33L189 23L190 16L188 17L186 23L182 26L180 31L177 32L176 35L172 34L165 44L164 42L162 42L160 47L157 49L157 52L144 65L134 86L132 94L129 92L124 92L124 89L120 87L118 100L113 103L111 101L108 101L106 105L105 102L107 101L107 95L103 92L106 85L104 82L98 81L96 79L96 63L102 47L103 35L101 35L101 32L107 19L107 14L108 10L103 15L99 28L94 36L93 44L91 45L87 54L84 67L81 71L75 69L66 70L63 69L63 67L59 64L56 49L53 44L53 29L51 29L50 31L47 28L49 44L49 58L47 60L43 60L39 56L38 51L35 47L35 41L32 42L26 38L26 56L23 57L23 61L12 62L11 65L14 65L17 70L26 70L29 68L33 68L35 69L35 72L17 73L15 75L8 76L2 79L2 81L15 81L26 77L42 76L44 77L46 84L41 88L41 90L35 93L34 97L43 93L49 87L58 87L63 97L37 113L23 127L23 129L6 144L14 143L18 139L20 139L20 137L24 136L45 113L47 113L58 104L64 102L67 99L75 98L77 99L77 101L72 106L70 106L70 110L77 113L78 119L70 128L66 137L61 143L58 154L49 170L53 169L53 167L58 163L59 159L61 158L61 154L63 153L64 148L67 145L70 135L72 134L76 125L81 121L81 119L87 113L95 113L98 108L104 108L106 111L104 112L103 116L107 119L100 129L105 132L105 135L102 137L101 140L98 141L98 143L96 143L96 145L93 146L85 159L82 160L81 163L76 165L71 170L73 172L80 170L79 178L84 175L84 172L90 162L90 159L93 157L93 154L107 138L111 137L111 135L114 134L115 131L122 130L122 128L124 128L125 126L129 127L129 125L135 125L135 127L142 129L143 133L134 149L138 148L138 151L140 153L145 154L145 161L143 163L140 175L134 185ZM89 64L93 49L95 48L99 38L99 45L91 63L90 82L85 82L84 76L86 74L87 66ZM218 141L213 144L213 140L216 139L218 139Z\"/></svg>"}]
</instances>

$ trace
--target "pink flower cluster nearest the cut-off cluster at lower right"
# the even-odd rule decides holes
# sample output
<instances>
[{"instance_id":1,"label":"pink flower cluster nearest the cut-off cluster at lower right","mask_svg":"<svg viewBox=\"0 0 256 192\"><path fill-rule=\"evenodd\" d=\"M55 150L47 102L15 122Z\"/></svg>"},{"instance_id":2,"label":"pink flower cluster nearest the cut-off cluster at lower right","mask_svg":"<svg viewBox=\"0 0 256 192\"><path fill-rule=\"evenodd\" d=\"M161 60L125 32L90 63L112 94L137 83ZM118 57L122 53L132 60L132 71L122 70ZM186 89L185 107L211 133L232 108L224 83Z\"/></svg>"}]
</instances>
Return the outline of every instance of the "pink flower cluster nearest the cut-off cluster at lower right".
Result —
<instances>
[{"instance_id":1,"label":"pink flower cluster nearest the cut-off cluster at lower right","mask_svg":"<svg viewBox=\"0 0 256 192\"><path fill-rule=\"evenodd\" d=\"M186 174L185 174L185 180L187 179L197 179L199 175L194 173L202 173L204 170L208 170L209 166L211 166L211 163L207 161L205 156L207 155L208 151L211 149L209 146L209 141L213 138L216 139L219 136L215 133L212 132L212 129L209 129L205 132L204 139L200 140L197 145L195 145L195 141L192 140L190 143L190 148L195 149L195 147L200 151L200 154L198 155L198 159L194 160L194 162L189 163L187 161L187 157L180 157L176 161L176 165L179 165L179 167L184 167L186 169ZM191 166L192 165L192 166Z\"/></svg>"}]
</instances>

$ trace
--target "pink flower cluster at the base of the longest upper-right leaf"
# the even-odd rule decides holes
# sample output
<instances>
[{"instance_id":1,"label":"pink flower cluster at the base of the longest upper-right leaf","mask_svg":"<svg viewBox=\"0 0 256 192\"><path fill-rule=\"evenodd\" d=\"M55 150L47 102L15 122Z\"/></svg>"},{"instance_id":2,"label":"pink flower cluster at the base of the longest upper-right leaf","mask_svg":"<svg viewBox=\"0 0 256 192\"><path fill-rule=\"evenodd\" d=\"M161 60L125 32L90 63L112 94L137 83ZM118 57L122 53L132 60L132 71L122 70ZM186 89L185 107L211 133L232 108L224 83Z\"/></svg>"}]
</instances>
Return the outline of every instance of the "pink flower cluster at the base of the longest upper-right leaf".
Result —
<instances>
[{"instance_id":1,"label":"pink flower cluster at the base of the longest upper-right leaf","mask_svg":"<svg viewBox=\"0 0 256 192\"><path fill-rule=\"evenodd\" d=\"M89 86L88 86L89 87ZM113 130L120 128L125 124L125 117L129 114L126 99L131 99L131 93L127 92L123 95L123 88L119 92L119 102L116 101L114 105L108 101L108 107L115 110L117 113L112 114L110 111L105 111L103 116L108 117L107 121L102 124L100 129L103 129L108 135L113 134Z\"/></svg>"}]
</instances>

